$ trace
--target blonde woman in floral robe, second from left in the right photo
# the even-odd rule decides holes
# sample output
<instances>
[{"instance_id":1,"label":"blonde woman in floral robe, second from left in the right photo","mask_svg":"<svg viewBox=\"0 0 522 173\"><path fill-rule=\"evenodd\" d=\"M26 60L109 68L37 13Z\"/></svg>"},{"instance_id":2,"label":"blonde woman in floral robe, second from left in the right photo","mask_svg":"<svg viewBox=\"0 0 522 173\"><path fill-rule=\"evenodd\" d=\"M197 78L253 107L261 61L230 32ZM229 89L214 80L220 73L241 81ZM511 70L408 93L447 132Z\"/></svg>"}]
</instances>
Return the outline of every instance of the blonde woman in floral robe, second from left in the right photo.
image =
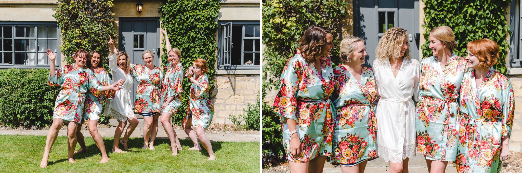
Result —
<instances>
[{"instance_id":1,"label":"blonde woman in floral robe, second from left in the right photo","mask_svg":"<svg viewBox=\"0 0 522 173\"><path fill-rule=\"evenodd\" d=\"M348 36L340 45L341 61L334 68L336 108L333 161L342 172L364 172L367 160L377 158L375 105L377 88L373 70L362 66L366 46Z\"/></svg>"}]
</instances>

